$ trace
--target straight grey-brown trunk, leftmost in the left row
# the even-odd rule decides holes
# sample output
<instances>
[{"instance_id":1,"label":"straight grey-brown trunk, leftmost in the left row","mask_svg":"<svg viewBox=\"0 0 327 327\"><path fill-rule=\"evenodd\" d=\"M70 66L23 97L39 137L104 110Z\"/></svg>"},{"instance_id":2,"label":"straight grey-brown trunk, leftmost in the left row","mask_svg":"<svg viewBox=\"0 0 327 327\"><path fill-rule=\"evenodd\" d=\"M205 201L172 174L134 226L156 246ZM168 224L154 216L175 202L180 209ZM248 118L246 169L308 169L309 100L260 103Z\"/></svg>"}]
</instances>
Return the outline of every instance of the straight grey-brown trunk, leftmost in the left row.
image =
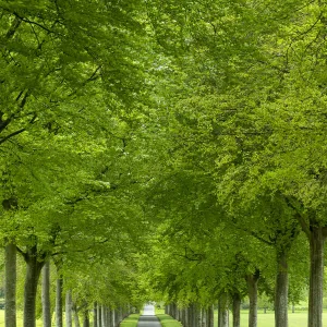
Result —
<instances>
[{"instance_id":1,"label":"straight grey-brown trunk, leftmost in the left row","mask_svg":"<svg viewBox=\"0 0 327 327\"><path fill-rule=\"evenodd\" d=\"M16 245L5 245L5 327L16 327Z\"/></svg>"}]
</instances>

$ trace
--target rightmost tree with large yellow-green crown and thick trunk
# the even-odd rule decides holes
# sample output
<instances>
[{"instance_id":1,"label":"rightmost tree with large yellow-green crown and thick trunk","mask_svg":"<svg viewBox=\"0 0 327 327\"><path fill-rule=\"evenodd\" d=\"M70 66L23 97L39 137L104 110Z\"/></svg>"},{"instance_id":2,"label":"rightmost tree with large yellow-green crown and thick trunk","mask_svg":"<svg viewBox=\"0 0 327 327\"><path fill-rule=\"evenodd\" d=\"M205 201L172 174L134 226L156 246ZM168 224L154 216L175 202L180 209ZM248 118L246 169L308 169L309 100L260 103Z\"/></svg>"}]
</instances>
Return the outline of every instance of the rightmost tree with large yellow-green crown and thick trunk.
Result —
<instances>
[{"instance_id":1,"label":"rightmost tree with large yellow-green crown and thick trunk","mask_svg":"<svg viewBox=\"0 0 327 327\"><path fill-rule=\"evenodd\" d=\"M283 197L308 235L312 251L319 253L312 253L312 258L319 259L312 259L315 281L311 282L308 325L322 326L325 237L322 208L316 210L317 198L324 202L319 192L325 164L318 154L324 153L325 4L158 2L165 13L155 12L158 36L162 40L168 26L169 44L162 46L174 50L174 62L182 62L187 84L194 85L192 97L180 102L182 110L175 117L189 126L173 134L184 148L180 153L187 156L192 150L198 156L201 168L217 181L218 198L223 193L230 196L228 206L235 205L238 193L245 202L250 197L254 202L263 184ZM182 49L189 69L181 59ZM207 110L197 105L201 101ZM312 153L315 161L308 159ZM313 296L314 292L319 295ZM282 320L287 326L287 319Z\"/></svg>"}]
</instances>

